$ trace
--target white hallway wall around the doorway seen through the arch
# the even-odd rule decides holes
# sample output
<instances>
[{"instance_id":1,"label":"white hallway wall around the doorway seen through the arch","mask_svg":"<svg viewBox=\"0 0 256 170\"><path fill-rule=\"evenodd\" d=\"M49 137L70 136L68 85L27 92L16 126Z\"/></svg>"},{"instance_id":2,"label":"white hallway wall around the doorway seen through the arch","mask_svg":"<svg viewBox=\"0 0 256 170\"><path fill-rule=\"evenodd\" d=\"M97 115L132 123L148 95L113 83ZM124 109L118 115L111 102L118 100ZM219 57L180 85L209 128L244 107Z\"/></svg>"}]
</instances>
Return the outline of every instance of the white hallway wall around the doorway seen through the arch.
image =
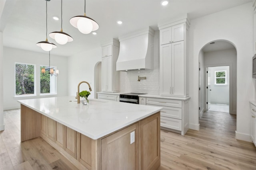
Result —
<instances>
[{"instance_id":1,"label":"white hallway wall around the doorway seen through the arch","mask_svg":"<svg viewBox=\"0 0 256 170\"><path fill-rule=\"evenodd\" d=\"M230 114L236 114L237 107L237 53L236 49L227 49L219 51L211 51L204 53L204 68L213 66L230 66L230 92L229 92L229 105ZM206 84L206 72L204 72L204 84ZM206 99L206 92L204 92L204 97ZM204 102L206 107L206 102Z\"/></svg>"}]
</instances>

